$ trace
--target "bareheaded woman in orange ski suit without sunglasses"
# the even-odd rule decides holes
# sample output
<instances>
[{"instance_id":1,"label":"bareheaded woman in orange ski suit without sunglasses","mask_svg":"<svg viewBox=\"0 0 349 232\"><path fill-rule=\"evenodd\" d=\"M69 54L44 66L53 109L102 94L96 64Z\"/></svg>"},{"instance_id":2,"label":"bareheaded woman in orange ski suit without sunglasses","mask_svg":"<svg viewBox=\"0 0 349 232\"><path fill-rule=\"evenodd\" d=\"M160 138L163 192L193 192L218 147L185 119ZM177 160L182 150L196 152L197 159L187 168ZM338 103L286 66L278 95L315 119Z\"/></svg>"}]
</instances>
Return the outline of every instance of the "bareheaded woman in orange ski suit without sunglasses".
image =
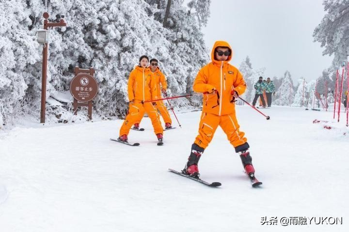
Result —
<instances>
[{"instance_id":1,"label":"bareheaded woman in orange ski suit without sunglasses","mask_svg":"<svg viewBox=\"0 0 349 232\"><path fill-rule=\"evenodd\" d=\"M158 140L162 141L163 129L160 124L156 102L146 102L155 100L157 95L153 73L147 68L148 63L149 58L142 56L139 59L139 65L129 75L127 85L129 110L120 129L119 141L127 142L129 130L144 112L150 117Z\"/></svg>"}]
</instances>

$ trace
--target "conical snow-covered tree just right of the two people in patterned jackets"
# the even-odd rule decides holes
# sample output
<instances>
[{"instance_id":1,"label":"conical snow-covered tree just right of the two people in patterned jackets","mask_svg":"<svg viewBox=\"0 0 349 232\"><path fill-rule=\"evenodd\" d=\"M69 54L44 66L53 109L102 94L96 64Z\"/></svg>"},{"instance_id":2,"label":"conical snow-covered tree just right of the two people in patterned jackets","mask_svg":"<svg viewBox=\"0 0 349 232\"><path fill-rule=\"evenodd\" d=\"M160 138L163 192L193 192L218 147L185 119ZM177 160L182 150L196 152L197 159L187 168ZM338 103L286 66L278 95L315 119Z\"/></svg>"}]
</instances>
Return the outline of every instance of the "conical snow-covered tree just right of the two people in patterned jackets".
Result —
<instances>
[{"instance_id":1,"label":"conical snow-covered tree just right of the two people in patterned jackets","mask_svg":"<svg viewBox=\"0 0 349 232\"><path fill-rule=\"evenodd\" d=\"M279 89L277 89L274 101L276 105L290 105L294 101L294 89L291 74L286 71Z\"/></svg>"}]
</instances>

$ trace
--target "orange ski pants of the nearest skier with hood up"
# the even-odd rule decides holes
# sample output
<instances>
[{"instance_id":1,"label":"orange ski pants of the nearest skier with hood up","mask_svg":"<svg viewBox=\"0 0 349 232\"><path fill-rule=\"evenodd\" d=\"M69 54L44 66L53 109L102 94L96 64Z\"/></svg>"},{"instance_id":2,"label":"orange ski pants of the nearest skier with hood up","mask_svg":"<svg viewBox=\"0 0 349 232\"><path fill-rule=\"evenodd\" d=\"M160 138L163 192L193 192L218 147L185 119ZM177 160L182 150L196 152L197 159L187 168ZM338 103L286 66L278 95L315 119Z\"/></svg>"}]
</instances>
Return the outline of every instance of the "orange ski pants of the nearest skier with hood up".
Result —
<instances>
[{"instance_id":1,"label":"orange ski pants of the nearest skier with hood up","mask_svg":"<svg viewBox=\"0 0 349 232\"><path fill-rule=\"evenodd\" d=\"M247 142L245 133L239 131L239 125L235 113L230 115L213 115L203 112L199 124L199 134L195 138L195 144L206 148L211 142L217 127L221 126L231 145L237 147Z\"/></svg>"}]
</instances>

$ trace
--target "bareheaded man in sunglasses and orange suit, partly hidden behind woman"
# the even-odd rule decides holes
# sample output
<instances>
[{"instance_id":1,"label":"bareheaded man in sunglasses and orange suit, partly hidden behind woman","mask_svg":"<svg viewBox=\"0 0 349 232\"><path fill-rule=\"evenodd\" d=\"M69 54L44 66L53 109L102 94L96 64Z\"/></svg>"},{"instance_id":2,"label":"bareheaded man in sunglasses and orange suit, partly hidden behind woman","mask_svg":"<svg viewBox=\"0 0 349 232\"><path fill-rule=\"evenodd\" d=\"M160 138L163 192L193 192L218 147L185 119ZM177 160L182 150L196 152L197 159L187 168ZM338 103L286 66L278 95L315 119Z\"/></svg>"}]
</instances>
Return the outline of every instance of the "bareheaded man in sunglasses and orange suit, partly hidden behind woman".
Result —
<instances>
[{"instance_id":1,"label":"bareheaded man in sunglasses and orange suit, partly hidden behind woman","mask_svg":"<svg viewBox=\"0 0 349 232\"><path fill-rule=\"evenodd\" d=\"M155 85L157 88L157 99L161 99L161 92L162 93L166 93L166 89L167 89L167 82L166 82L166 78L165 75L160 71L159 66L158 66L158 60L155 58L152 58L150 60L150 70L153 72L153 77L154 77L154 81L155 81ZM160 86L161 84L161 86ZM172 128L171 124L172 124L172 120L171 120L171 116L167 111L167 108L165 106L165 104L161 101L157 101L157 105L156 105L157 109L159 110L164 122L165 122L165 129L170 129ZM137 118L136 123L134 124L133 128L136 130L139 130L139 124L141 123L141 120L143 118L143 115L140 115L139 118Z\"/></svg>"}]
</instances>

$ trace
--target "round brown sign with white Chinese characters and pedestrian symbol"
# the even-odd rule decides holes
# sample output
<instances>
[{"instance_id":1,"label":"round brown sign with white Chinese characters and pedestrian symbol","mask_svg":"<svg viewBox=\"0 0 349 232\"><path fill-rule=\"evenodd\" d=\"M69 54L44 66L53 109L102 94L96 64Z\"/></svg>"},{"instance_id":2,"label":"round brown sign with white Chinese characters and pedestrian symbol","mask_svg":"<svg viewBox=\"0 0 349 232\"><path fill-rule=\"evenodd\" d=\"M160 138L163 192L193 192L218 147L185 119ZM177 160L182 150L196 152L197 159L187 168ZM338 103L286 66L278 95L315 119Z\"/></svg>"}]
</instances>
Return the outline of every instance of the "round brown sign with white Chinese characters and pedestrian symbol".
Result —
<instances>
[{"instance_id":1,"label":"round brown sign with white Chinese characters and pedestrian symbol","mask_svg":"<svg viewBox=\"0 0 349 232\"><path fill-rule=\"evenodd\" d=\"M95 98L98 84L88 73L79 73L70 82L70 93L79 102L89 102Z\"/></svg>"}]
</instances>

